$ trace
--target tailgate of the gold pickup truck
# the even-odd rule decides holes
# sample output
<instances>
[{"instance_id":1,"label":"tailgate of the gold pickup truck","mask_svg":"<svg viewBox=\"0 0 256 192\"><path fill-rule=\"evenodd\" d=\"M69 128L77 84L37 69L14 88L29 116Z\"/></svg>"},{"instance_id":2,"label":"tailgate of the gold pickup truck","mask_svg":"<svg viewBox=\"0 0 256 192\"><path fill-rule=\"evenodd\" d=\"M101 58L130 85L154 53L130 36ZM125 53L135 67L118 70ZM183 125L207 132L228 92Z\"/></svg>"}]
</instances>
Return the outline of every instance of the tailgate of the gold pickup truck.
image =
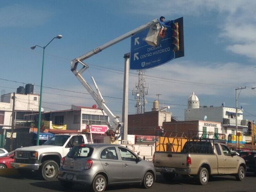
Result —
<instances>
[{"instance_id":1,"label":"tailgate of the gold pickup truck","mask_svg":"<svg viewBox=\"0 0 256 192\"><path fill-rule=\"evenodd\" d=\"M155 152L154 166L186 169L187 156L188 154L186 153Z\"/></svg>"}]
</instances>

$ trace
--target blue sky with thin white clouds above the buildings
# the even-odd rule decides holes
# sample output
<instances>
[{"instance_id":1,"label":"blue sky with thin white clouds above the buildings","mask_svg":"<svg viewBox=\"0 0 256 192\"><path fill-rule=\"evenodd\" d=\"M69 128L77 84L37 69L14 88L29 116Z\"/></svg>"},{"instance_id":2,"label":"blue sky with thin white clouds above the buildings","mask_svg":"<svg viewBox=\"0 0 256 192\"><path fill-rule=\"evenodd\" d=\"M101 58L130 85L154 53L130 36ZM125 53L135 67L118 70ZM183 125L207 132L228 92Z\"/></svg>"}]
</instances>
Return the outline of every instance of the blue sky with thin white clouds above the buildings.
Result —
<instances>
[{"instance_id":1,"label":"blue sky with thin white clouds above the buildings","mask_svg":"<svg viewBox=\"0 0 256 192\"><path fill-rule=\"evenodd\" d=\"M254 120L256 89L255 1L1 1L0 89L15 92L22 83L40 85L42 53L46 45L44 110L69 109L71 104L92 106L95 102L70 71L72 59L164 15L167 20L183 17L185 57L146 70L150 84L146 111L159 97L160 106L169 104L173 116L184 119L187 99L194 91L200 105L235 107L235 88L241 91L238 106L244 119ZM130 38L86 60L83 75L96 80L107 106L121 116L124 54L130 52ZM129 75L129 114L135 113L132 89L136 71ZM154 76L154 77L153 77ZM91 83L91 81L90 81ZM36 86L36 93L40 87ZM113 98L114 97L114 98ZM164 104L163 104L164 103ZM203 117L202 117L203 118Z\"/></svg>"}]
</instances>

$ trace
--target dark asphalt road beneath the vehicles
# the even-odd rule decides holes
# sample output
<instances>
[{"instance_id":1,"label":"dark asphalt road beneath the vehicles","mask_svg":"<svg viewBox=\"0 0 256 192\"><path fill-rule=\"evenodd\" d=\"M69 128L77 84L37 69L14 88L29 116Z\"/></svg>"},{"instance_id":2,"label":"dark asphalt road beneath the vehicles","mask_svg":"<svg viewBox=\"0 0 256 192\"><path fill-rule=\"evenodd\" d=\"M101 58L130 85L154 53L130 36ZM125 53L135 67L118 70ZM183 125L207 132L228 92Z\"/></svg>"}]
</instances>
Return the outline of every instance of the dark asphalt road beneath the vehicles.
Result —
<instances>
[{"instance_id":1,"label":"dark asphalt road beneath the vehicles","mask_svg":"<svg viewBox=\"0 0 256 192\"><path fill-rule=\"evenodd\" d=\"M213 177L206 186L200 186L193 183L190 178L175 178L174 182L166 182L157 175L156 183L150 189L143 189L140 185L126 185L126 186L109 186L108 192L165 192L165 191L207 191L207 192L255 192L256 191L256 177L252 174L247 174L244 181L236 181L234 177ZM15 170L3 174L0 172L0 191L2 192L84 192L86 187L75 185L71 190L62 188L58 180L44 181L35 178L33 175L27 178L21 178Z\"/></svg>"}]
</instances>

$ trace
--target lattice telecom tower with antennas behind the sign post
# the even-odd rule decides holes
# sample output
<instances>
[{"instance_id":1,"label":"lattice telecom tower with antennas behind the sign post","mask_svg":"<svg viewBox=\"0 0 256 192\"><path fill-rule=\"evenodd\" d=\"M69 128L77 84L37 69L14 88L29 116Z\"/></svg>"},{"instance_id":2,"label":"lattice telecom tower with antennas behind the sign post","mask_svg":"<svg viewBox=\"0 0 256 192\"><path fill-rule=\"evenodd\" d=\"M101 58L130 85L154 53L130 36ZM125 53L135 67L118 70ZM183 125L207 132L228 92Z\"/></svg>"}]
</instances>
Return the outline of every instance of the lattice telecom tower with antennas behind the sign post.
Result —
<instances>
[{"instance_id":1,"label":"lattice telecom tower with antennas behind the sign post","mask_svg":"<svg viewBox=\"0 0 256 192\"><path fill-rule=\"evenodd\" d=\"M139 82L135 84L135 87L132 90L132 95L136 100L136 114L142 114L145 112L145 106L148 104L148 101L145 99L145 95L148 94L149 84L146 86L145 79L143 74L146 73L146 70L137 70L139 72Z\"/></svg>"}]
</instances>

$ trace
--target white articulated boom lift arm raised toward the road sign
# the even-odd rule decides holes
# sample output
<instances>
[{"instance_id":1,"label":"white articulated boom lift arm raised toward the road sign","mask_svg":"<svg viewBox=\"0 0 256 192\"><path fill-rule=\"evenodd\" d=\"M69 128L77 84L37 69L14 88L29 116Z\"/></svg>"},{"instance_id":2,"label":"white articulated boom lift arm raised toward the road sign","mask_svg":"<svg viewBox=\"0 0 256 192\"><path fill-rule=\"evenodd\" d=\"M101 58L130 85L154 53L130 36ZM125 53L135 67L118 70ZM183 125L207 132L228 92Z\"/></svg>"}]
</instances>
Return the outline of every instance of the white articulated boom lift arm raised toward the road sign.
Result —
<instances>
[{"instance_id":1,"label":"white articulated boom lift arm raised toward the road sign","mask_svg":"<svg viewBox=\"0 0 256 192\"><path fill-rule=\"evenodd\" d=\"M132 31L125 33L122 36L119 36L111 41L109 41L106 44L103 44L95 49L93 49L92 51L89 51L87 53L85 53L84 55L74 59L71 61L71 71L74 73L74 75L76 76L76 78L81 82L81 84L84 85L84 88L90 93L90 95L92 96L92 98L96 101L96 103L98 104L99 108L102 110L102 112L104 111L108 117L114 122L115 124L115 128L111 128L109 123L108 123L108 127L110 129L110 136L112 140L116 140L121 136L121 132L122 132L122 128L123 128L123 123L120 123L120 121L118 120L118 117L115 116L110 110L109 108L106 106L105 101L100 93L100 90L96 84L96 82L94 81L93 77L92 81L94 83L94 86L96 88L96 92L93 91L92 87L85 81L85 79L82 77L82 73L89 67L88 65L86 65L83 61L95 54L97 54L98 52L101 52L102 50L134 35L135 33L138 33L146 28L149 28L153 25L156 25L158 23L157 19L154 19L148 23L146 23L145 25L142 25L136 29L133 29ZM80 69L77 69L78 64L81 64L82 67ZM118 136L117 136L118 135Z\"/></svg>"}]
</instances>

